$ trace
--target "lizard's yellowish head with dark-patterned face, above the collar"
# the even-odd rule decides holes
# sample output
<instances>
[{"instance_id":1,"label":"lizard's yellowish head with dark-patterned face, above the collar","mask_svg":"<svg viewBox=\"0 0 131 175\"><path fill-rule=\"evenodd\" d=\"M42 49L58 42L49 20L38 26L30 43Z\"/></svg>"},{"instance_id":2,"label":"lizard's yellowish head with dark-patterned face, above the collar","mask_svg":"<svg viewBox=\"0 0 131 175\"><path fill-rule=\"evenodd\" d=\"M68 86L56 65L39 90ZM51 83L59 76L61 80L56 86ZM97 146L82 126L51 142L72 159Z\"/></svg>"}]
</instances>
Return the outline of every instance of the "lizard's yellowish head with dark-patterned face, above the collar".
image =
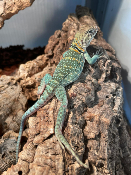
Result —
<instances>
[{"instance_id":1,"label":"lizard's yellowish head with dark-patterned face, above the collar","mask_svg":"<svg viewBox=\"0 0 131 175\"><path fill-rule=\"evenodd\" d=\"M81 47L86 50L86 47L90 45L90 42L94 38L98 31L97 26L83 26L76 33L75 39L80 42Z\"/></svg>"}]
</instances>

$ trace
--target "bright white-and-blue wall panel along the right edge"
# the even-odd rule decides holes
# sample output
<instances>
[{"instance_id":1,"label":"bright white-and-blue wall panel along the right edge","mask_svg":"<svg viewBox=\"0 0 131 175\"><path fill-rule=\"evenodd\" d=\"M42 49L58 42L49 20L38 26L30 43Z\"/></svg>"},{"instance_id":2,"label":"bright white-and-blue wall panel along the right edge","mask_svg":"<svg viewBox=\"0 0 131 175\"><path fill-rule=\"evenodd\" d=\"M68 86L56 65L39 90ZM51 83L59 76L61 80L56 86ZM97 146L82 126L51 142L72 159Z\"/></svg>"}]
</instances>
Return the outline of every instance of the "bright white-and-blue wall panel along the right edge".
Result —
<instances>
[{"instance_id":1,"label":"bright white-and-blue wall panel along the right edge","mask_svg":"<svg viewBox=\"0 0 131 175\"><path fill-rule=\"evenodd\" d=\"M131 0L109 0L102 31L122 66L124 110L131 124Z\"/></svg>"}]
</instances>

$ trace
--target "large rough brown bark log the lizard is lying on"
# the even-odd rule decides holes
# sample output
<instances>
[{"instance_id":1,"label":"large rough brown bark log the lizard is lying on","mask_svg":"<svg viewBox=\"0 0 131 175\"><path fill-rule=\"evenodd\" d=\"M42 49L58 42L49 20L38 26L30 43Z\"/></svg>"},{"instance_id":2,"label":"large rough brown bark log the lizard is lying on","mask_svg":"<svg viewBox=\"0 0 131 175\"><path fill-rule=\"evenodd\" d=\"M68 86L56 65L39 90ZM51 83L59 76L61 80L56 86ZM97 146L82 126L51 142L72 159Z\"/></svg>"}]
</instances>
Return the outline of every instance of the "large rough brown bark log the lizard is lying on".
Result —
<instances>
[{"instance_id":1,"label":"large rough brown bark log the lizard is lying on","mask_svg":"<svg viewBox=\"0 0 131 175\"><path fill-rule=\"evenodd\" d=\"M70 15L63 23L62 30L50 37L46 54L22 64L15 76L1 77L0 117L1 126L6 126L1 131L4 133L2 148L9 140L9 144L15 143L20 118L32 101L37 99L40 79L46 73L53 74L63 52L68 50L83 23L92 25L96 21L87 8L77 6L76 16ZM23 138L28 140L19 153L18 163L3 175L131 174L131 136L123 117L121 66L114 49L103 39L100 29L87 49L92 55L99 47L105 50L104 56L93 66L86 62L79 79L66 87L69 103L63 127L65 138L82 161L86 163L89 160L90 171L80 167L66 150L63 151L54 135L60 103L53 97L29 118L29 129L23 132ZM7 130L12 131L5 133ZM9 155L2 153L0 164L7 168L10 166L7 161Z\"/></svg>"}]
</instances>

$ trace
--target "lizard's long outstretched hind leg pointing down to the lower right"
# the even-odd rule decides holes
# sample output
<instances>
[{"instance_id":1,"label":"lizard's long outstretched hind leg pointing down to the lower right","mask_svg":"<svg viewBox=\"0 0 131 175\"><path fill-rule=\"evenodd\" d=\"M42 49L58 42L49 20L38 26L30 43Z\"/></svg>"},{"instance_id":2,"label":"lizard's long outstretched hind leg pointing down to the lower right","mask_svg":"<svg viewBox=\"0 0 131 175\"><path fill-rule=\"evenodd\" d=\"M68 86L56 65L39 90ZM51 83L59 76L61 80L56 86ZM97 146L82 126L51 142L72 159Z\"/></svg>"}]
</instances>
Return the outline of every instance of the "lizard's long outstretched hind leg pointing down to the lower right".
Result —
<instances>
[{"instance_id":1,"label":"lizard's long outstretched hind leg pointing down to the lower right","mask_svg":"<svg viewBox=\"0 0 131 175\"><path fill-rule=\"evenodd\" d=\"M67 108L67 103L68 103L65 88L63 86L59 86L55 90L55 95L56 95L57 99L61 102L61 106L60 106L60 109L58 111L58 116L57 116L57 121L56 121L56 126L55 126L55 135L56 135L60 145L62 146L62 148L64 145L66 147L66 149L75 157L75 159L77 160L77 162L81 166L83 166L85 168L89 168L88 164L87 165L84 164L79 159L79 157L73 151L73 149L71 148L71 146L69 145L69 143L67 142L67 140L65 139L65 137L62 134L62 126L64 123L66 108Z\"/></svg>"}]
</instances>

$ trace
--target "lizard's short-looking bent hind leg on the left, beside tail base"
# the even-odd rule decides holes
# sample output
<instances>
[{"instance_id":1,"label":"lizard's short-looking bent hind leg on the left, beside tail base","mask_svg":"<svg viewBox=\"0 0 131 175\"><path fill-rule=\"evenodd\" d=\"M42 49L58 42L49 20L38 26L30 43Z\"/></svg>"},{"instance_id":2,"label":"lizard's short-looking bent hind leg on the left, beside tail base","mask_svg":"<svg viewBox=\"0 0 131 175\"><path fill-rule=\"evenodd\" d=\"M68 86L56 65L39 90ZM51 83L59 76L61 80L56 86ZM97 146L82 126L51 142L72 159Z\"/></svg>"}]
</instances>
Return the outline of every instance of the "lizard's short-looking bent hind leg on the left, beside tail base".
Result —
<instances>
[{"instance_id":1,"label":"lizard's short-looking bent hind leg on the left, beside tail base","mask_svg":"<svg viewBox=\"0 0 131 175\"><path fill-rule=\"evenodd\" d=\"M52 79L52 76L50 74L46 74L42 79L41 79L41 82L40 82L40 86L38 87L38 91L37 91L37 94L38 95L41 95L44 90L45 90L45 87L46 87L46 84Z\"/></svg>"}]
</instances>

